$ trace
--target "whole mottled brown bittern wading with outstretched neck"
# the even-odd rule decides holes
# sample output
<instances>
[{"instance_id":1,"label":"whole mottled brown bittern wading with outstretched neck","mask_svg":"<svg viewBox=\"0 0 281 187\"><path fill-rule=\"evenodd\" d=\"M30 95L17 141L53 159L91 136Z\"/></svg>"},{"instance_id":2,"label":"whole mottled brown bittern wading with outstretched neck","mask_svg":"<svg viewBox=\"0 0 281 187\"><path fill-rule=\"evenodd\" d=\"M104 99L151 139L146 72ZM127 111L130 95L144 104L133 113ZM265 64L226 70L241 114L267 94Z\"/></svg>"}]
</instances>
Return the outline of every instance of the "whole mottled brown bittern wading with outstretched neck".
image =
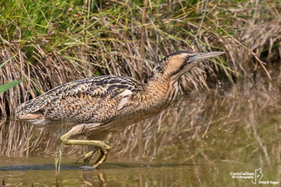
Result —
<instances>
[{"instance_id":1,"label":"whole mottled brown bittern wading with outstretched neck","mask_svg":"<svg viewBox=\"0 0 281 187\"><path fill-rule=\"evenodd\" d=\"M69 82L20 104L15 110L15 118L37 126L59 124L63 120L71 129L60 136L60 140L66 145L91 146L93 150L81 157L85 167L97 168L105 162L111 149L100 138L113 129L139 122L168 108L178 95L179 78L200 61L223 53L176 51L155 65L145 83L115 75ZM96 140L71 138L79 134L91 134ZM97 150L100 150L100 157L93 166L88 166Z\"/></svg>"}]
</instances>

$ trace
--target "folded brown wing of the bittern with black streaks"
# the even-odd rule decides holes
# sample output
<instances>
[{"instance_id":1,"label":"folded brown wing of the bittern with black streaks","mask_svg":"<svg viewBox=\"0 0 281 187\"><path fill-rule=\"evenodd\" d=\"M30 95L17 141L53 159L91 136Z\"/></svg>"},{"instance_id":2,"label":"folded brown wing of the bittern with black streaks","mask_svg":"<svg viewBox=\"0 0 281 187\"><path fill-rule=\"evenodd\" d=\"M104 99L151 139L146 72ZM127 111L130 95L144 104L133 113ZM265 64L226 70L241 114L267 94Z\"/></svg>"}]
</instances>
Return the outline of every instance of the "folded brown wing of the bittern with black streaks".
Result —
<instances>
[{"instance_id":1,"label":"folded brown wing of the bittern with black streaks","mask_svg":"<svg viewBox=\"0 0 281 187\"><path fill-rule=\"evenodd\" d=\"M18 112L51 120L107 122L117 115L126 98L142 85L130 77L99 76L81 79L27 101ZM18 117L20 118L20 117Z\"/></svg>"}]
</instances>

